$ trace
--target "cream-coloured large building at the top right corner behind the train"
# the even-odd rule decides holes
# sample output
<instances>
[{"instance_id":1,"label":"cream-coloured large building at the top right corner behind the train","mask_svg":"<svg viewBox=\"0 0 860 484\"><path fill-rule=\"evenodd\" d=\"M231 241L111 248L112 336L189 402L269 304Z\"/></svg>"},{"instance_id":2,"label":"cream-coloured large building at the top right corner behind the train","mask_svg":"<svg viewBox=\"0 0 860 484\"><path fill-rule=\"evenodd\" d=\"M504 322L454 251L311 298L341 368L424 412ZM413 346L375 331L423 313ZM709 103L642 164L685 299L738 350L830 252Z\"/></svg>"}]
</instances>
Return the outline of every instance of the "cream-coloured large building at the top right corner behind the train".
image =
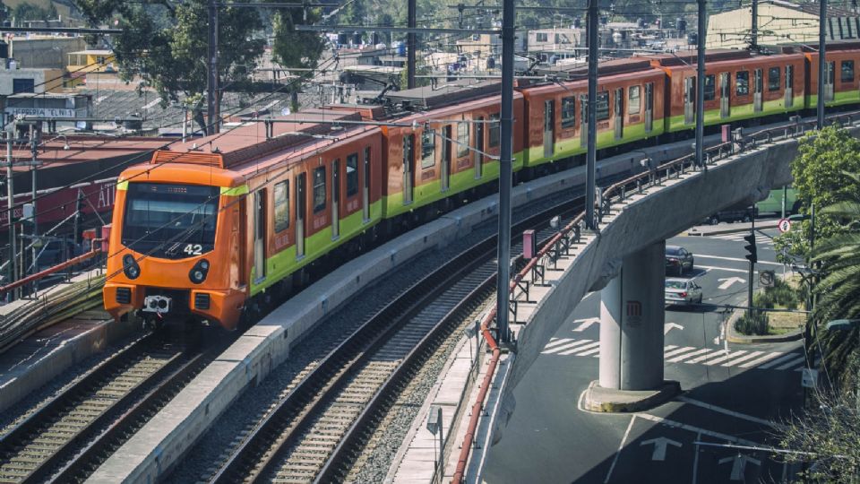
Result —
<instances>
[{"instance_id":1,"label":"cream-coloured large building at the top right corner behind the train","mask_svg":"<svg viewBox=\"0 0 860 484\"><path fill-rule=\"evenodd\" d=\"M760 0L758 44L818 44L819 4ZM828 40L860 38L860 13L831 7L827 13ZM747 48L753 30L752 7L736 8L708 18L708 48Z\"/></svg>"}]
</instances>

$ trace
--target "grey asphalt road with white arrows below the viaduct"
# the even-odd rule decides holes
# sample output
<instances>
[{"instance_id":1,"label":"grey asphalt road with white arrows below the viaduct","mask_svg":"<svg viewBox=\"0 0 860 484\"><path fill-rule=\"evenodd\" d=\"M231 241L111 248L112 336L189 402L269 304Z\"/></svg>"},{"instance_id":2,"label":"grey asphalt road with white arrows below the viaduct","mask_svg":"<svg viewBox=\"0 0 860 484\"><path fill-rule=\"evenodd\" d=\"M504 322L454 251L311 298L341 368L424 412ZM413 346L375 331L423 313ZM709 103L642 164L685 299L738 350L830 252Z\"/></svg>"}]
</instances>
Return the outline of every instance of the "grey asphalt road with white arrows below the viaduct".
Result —
<instances>
[{"instance_id":1,"label":"grey asphalt road with white arrows below the viaduct","mask_svg":"<svg viewBox=\"0 0 860 484\"><path fill-rule=\"evenodd\" d=\"M768 237L775 233L759 234L758 268L781 272ZM692 277L704 303L745 304L743 236L667 241L694 254ZM516 389L516 411L487 455L486 482L778 482L791 475L791 467L750 447L777 445L774 422L803 402L800 341L727 343L715 308L669 307L666 378L684 393L641 413L591 413L580 401L598 377L598 303L599 294L583 299Z\"/></svg>"}]
</instances>

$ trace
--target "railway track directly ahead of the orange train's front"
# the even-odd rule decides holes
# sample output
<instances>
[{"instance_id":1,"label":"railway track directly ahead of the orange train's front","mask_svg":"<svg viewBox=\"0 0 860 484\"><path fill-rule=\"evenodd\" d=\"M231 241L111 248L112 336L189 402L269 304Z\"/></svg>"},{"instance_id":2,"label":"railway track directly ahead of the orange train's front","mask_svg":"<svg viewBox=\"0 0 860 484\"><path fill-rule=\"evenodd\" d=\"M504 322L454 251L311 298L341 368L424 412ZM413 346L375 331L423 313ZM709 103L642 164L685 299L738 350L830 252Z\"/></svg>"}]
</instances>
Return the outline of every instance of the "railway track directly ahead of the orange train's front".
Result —
<instances>
[{"instance_id":1,"label":"railway track directly ahead of the orange train's front","mask_svg":"<svg viewBox=\"0 0 860 484\"><path fill-rule=\"evenodd\" d=\"M85 479L202 369L195 348L150 333L117 351L0 438L0 482Z\"/></svg>"}]
</instances>

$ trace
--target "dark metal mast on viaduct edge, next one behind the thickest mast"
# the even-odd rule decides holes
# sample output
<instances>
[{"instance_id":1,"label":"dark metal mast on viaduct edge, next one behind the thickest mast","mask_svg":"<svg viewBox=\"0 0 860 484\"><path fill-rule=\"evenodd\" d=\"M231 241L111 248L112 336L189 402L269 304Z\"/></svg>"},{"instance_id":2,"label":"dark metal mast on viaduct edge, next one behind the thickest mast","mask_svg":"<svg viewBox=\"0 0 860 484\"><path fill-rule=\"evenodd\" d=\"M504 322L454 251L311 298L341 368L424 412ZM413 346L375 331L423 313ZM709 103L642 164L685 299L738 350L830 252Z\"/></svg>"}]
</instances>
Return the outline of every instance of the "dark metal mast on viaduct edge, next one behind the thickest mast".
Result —
<instances>
[{"instance_id":1,"label":"dark metal mast on viaduct edge, next one behind the thickest mast","mask_svg":"<svg viewBox=\"0 0 860 484\"><path fill-rule=\"evenodd\" d=\"M597 229L594 217L594 179L598 161L598 0L589 0L589 139L585 169L585 227ZM662 27L662 25L660 26Z\"/></svg>"}]
</instances>

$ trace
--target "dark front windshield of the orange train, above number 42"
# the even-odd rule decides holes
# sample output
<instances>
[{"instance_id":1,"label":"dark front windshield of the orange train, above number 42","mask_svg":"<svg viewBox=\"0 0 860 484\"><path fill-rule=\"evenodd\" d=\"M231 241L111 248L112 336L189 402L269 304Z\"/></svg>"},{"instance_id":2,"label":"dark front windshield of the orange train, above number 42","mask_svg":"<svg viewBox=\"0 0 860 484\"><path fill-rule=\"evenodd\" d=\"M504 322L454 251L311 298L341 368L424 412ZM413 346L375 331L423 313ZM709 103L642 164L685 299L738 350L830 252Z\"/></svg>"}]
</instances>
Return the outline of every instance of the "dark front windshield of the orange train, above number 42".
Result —
<instances>
[{"instance_id":1,"label":"dark front windshield of the orange train, above number 42","mask_svg":"<svg viewBox=\"0 0 860 484\"><path fill-rule=\"evenodd\" d=\"M129 183L123 245L173 259L211 251L219 193L218 186Z\"/></svg>"}]
</instances>

